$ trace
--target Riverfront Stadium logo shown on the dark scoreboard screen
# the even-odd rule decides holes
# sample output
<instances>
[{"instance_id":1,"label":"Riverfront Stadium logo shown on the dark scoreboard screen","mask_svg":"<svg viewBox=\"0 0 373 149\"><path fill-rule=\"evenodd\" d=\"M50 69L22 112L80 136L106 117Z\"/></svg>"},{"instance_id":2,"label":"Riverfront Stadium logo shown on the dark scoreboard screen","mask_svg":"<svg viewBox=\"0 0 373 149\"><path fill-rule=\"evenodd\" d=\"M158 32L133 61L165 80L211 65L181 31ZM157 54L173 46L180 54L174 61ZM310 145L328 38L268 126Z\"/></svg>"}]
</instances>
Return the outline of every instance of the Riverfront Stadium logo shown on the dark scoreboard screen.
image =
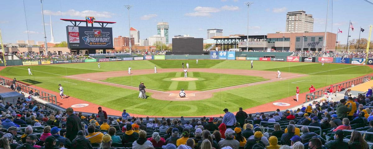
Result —
<instances>
[{"instance_id":1,"label":"Riverfront Stadium logo shown on the dark scoreboard screen","mask_svg":"<svg viewBox=\"0 0 373 149\"><path fill-rule=\"evenodd\" d=\"M87 36L82 37L84 43L89 46L106 46L109 45L111 39L109 37L110 32L101 32L101 29L93 29L92 32L85 31Z\"/></svg>"}]
</instances>

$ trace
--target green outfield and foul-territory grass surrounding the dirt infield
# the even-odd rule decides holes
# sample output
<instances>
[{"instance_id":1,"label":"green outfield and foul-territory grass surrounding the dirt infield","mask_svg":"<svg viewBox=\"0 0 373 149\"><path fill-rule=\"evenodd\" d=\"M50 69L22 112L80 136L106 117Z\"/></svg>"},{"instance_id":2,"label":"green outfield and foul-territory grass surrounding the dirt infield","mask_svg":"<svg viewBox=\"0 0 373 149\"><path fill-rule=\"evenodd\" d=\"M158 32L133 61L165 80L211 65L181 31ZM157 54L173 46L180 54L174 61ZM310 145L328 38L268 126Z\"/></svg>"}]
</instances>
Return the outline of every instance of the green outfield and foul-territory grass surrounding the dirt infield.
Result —
<instances>
[{"instance_id":1,"label":"green outfield and foul-territory grass surrounding the dirt infield","mask_svg":"<svg viewBox=\"0 0 373 149\"><path fill-rule=\"evenodd\" d=\"M175 64L170 64L171 61ZM315 88L321 88L332 83L342 82L344 80L363 76L368 73L373 73L373 70L369 66L329 63L325 63L325 66L321 66L320 63L254 61L254 70L276 71L277 69L280 69L282 72L313 74L295 79L286 79L272 83L217 92L214 93L212 98L201 101L161 101L152 99L151 97L148 99L139 99L137 98L137 89L123 89L63 77L65 75L76 75L83 73L127 70L128 66L130 65L134 70L154 69L154 65L156 65L159 69L180 68L181 62L183 61L184 63L190 63L190 67L192 68L250 69L250 61L199 60L199 64L197 65L195 64L195 60L190 60L191 62L188 60L142 60L101 62L101 69L98 69L97 63L6 67L0 71L0 75L9 78L16 77L17 80L25 80L27 82L36 83L34 84L35 86L40 86L55 92L58 92L57 87L58 84L61 83L65 88L65 93L67 93L69 96L90 101L105 107L110 107L115 110L121 111L126 109L128 112L136 114L179 117L181 115L203 116L223 114L222 109L224 108L236 111L238 110L238 107L242 107L244 109L255 107L257 105L294 95L296 86L299 86L301 93L303 93L308 92L308 87L311 84L314 85ZM30 67L31 70L35 70L32 72L34 75L28 75L26 70L27 67ZM132 79L134 77L136 76L132 76ZM156 80L152 77L149 77L149 79ZM302 82L298 82L298 84L292 83L297 81ZM76 83L77 85L73 85L71 83ZM133 83L136 84L136 86L138 85L137 81L133 81ZM151 83L147 84L147 86L150 84ZM195 88L197 89L198 86L199 84L196 84Z\"/></svg>"}]
</instances>

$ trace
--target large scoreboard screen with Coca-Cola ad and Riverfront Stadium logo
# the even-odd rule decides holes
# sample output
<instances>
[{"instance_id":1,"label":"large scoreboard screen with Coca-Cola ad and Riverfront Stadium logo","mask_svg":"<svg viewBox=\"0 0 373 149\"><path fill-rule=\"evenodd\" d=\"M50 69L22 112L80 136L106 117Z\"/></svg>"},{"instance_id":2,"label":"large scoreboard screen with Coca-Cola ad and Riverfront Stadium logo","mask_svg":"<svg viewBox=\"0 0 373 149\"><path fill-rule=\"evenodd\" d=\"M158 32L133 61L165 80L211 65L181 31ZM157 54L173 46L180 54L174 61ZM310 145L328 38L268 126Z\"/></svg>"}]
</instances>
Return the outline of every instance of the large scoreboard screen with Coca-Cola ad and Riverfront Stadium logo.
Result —
<instances>
[{"instance_id":1,"label":"large scoreboard screen with Coca-Cola ad and Riverfront Stadium logo","mask_svg":"<svg viewBox=\"0 0 373 149\"><path fill-rule=\"evenodd\" d=\"M112 28L66 26L68 48L113 48Z\"/></svg>"}]
</instances>

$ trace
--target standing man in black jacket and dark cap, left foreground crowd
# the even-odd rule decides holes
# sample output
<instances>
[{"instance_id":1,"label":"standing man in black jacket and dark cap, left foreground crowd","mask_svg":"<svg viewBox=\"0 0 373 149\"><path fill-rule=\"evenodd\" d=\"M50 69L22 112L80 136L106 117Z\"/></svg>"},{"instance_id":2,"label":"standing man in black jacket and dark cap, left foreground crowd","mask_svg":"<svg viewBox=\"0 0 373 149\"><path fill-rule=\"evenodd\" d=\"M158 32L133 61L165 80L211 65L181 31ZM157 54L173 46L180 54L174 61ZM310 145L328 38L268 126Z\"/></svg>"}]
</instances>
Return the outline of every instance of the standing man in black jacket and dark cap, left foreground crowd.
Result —
<instances>
[{"instance_id":1,"label":"standing man in black jacket and dark cap, left foreground crowd","mask_svg":"<svg viewBox=\"0 0 373 149\"><path fill-rule=\"evenodd\" d=\"M73 139L75 139L76 134L78 134L78 131L82 130L82 122L80 121L80 118L74 114L74 110L72 108L67 108L66 114L68 115L66 121L66 138L72 141Z\"/></svg>"}]
</instances>

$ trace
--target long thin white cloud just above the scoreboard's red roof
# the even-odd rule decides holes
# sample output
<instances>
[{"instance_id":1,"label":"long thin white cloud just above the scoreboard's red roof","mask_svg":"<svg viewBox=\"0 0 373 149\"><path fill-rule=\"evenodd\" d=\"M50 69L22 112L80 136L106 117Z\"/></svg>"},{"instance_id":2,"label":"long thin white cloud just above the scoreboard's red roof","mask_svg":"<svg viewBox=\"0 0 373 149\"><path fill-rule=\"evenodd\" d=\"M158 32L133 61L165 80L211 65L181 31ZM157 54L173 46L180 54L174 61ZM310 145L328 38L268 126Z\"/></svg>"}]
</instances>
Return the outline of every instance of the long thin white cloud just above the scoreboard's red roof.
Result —
<instances>
[{"instance_id":1,"label":"long thin white cloud just above the scoreboard's red roof","mask_svg":"<svg viewBox=\"0 0 373 149\"><path fill-rule=\"evenodd\" d=\"M53 12L51 10L44 10L44 14L53 15L53 16L61 16L61 15L62 16L79 16L82 18L84 18L85 16L94 16L95 18L111 18L112 15L115 15L114 13L106 12L106 11L96 12L93 10L84 10L82 12L79 12L74 9L70 9L66 12L61 12L61 11Z\"/></svg>"}]
</instances>

